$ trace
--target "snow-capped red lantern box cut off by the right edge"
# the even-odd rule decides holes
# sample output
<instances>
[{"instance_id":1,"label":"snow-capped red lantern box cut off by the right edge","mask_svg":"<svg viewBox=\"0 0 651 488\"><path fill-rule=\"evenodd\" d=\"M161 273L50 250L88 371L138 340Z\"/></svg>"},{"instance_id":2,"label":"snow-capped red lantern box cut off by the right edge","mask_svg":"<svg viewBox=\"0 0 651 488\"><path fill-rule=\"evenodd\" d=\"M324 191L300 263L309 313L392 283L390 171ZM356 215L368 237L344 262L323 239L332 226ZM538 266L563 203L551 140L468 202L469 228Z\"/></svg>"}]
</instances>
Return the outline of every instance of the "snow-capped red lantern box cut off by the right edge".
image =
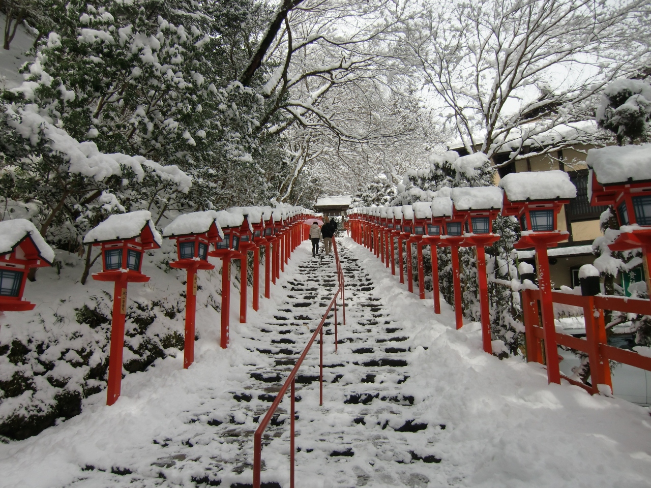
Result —
<instances>
[{"instance_id":1,"label":"snow-capped red lantern box cut off by the right edge","mask_svg":"<svg viewBox=\"0 0 651 488\"><path fill-rule=\"evenodd\" d=\"M590 149L588 196L613 205L620 225L651 226L651 144Z\"/></svg>"}]
</instances>

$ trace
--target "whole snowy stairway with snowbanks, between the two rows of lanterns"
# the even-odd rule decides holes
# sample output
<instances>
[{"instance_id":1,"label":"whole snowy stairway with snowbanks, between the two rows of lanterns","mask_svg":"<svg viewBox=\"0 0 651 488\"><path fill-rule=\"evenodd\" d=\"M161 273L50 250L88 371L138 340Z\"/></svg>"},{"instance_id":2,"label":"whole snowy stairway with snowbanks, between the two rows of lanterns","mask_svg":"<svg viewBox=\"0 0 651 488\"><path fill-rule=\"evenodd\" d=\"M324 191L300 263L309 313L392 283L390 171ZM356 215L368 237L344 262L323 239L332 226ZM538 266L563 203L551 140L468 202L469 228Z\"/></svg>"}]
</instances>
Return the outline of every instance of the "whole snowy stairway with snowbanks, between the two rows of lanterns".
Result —
<instances>
[{"instance_id":1,"label":"whole snowy stairway with snowbanks, between the two rows of lanterns","mask_svg":"<svg viewBox=\"0 0 651 488\"><path fill-rule=\"evenodd\" d=\"M651 485L648 409L482 353L477 323L445 325L449 307L435 318L431 295L419 301L366 249L337 240L347 325L335 355L327 324L323 407L318 345L299 373L297 487ZM206 334L189 370L182 355L159 360L128 375L112 407L98 394L79 416L0 445L0 485L247 486L258 419L336 286L333 257L303 243L273 298L232 324L229 349ZM262 450L269 488L288 486L287 404Z\"/></svg>"}]
</instances>

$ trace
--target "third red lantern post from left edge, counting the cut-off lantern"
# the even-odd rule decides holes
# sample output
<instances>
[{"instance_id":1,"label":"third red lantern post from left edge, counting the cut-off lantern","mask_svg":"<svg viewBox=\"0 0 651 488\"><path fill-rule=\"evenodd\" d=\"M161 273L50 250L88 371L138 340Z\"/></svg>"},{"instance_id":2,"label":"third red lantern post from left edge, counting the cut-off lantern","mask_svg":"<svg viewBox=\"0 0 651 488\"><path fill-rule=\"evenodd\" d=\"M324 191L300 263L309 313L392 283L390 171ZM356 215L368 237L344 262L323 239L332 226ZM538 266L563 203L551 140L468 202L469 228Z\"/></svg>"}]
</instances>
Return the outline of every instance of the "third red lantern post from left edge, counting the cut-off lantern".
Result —
<instances>
[{"instance_id":1,"label":"third red lantern post from left edge, counting the cut-off lantern","mask_svg":"<svg viewBox=\"0 0 651 488\"><path fill-rule=\"evenodd\" d=\"M217 226L217 212L213 210L179 215L163 230L163 237L176 239L178 260L170 267L187 270L186 331L183 349L183 367L189 368L195 360L195 316L197 312L197 271L214 269L208 262L208 248L221 240Z\"/></svg>"}]
</instances>

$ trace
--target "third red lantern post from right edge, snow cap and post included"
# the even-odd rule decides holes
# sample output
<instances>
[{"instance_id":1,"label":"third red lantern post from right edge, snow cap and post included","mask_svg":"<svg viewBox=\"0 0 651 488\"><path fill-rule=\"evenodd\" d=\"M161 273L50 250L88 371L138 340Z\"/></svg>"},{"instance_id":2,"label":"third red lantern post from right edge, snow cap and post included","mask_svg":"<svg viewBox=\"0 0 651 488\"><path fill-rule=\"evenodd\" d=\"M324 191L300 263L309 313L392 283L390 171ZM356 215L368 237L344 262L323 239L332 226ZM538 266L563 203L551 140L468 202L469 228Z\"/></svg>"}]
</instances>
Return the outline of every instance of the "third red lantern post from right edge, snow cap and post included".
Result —
<instances>
[{"instance_id":1,"label":"third red lantern post from right edge, snow cap and post included","mask_svg":"<svg viewBox=\"0 0 651 488\"><path fill-rule=\"evenodd\" d=\"M499 240L499 236L495 236L492 232L493 221L502 209L502 190L497 187L454 188L450 197L454 205L452 214L464 217L464 245L475 246L477 251L477 282L479 284L482 344L484 352L492 354L485 247Z\"/></svg>"}]
</instances>

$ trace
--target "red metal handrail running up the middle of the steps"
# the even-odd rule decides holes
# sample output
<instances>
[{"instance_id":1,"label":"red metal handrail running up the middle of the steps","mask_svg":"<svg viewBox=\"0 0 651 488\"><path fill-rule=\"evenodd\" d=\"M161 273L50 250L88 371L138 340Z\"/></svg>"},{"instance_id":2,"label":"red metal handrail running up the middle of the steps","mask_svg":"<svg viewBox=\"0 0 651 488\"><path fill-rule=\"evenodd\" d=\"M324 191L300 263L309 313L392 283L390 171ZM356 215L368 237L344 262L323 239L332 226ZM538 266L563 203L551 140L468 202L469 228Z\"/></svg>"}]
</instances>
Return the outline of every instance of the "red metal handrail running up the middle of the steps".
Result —
<instances>
[{"instance_id":1,"label":"red metal handrail running up the middle of the steps","mask_svg":"<svg viewBox=\"0 0 651 488\"><path fill-rule=\"evenodd\" d=\"M337 282L339 283L339 286L337 288L337 291L335 291L335 295L333 296L332 300L330 301L330 304L326 308L326 312L324 313L324 316L322 317L318 327L316 327L316 330L314 331L314 334L312 334L312 337L310 338L309 342L307 343L307 346L305 346L305 349L303 349L303 353L301 353L301 356L299 359L296 361L296 365L294 365L294 368L292 369L292 372L289 373L289 376L285 380L281 390L278 392L278 395L276 396L275 400L273 403L271 403L271 407L267 414L264 416L264 418L260 421L260 426L255 431L254 439L253 439L253 488L260 488L260 470L262 469L262 434L266 430L269 422L271 421L271 417L275 413L276 409L278 408L278 405L281 404L281 401L283 401L284 394L287 392L288 388L290 388L290 488L294 488L294 452L296 452L296 448L294 446L294 399L296 398L296 374L298 373L299 368L301 367L301 364L303 364L303 360L305 359L305 356L307 356L307 353L310 350L310 347L312 347L312 344L314 344L314 340L316 339L316 335L319 334L319 405L324 404L324 384L323 384L323 379L324 379L324 332L323 332L323 327L324 323L326 323L326 319L328 314L330 313L330 310L334 307L335 308L335 353L337 353L337 296L341 295L341 300L342 300L342 313L343 313L343 325L346 325L346 303L345 303L345 296L344 296L344 271L341 267L341 263L339 262L339 252L337 252L337 243L335 242L335 239L333 237L332 239L332 246L335 251L335 264L337 265Z\"/></svg>"}]
</instances>

